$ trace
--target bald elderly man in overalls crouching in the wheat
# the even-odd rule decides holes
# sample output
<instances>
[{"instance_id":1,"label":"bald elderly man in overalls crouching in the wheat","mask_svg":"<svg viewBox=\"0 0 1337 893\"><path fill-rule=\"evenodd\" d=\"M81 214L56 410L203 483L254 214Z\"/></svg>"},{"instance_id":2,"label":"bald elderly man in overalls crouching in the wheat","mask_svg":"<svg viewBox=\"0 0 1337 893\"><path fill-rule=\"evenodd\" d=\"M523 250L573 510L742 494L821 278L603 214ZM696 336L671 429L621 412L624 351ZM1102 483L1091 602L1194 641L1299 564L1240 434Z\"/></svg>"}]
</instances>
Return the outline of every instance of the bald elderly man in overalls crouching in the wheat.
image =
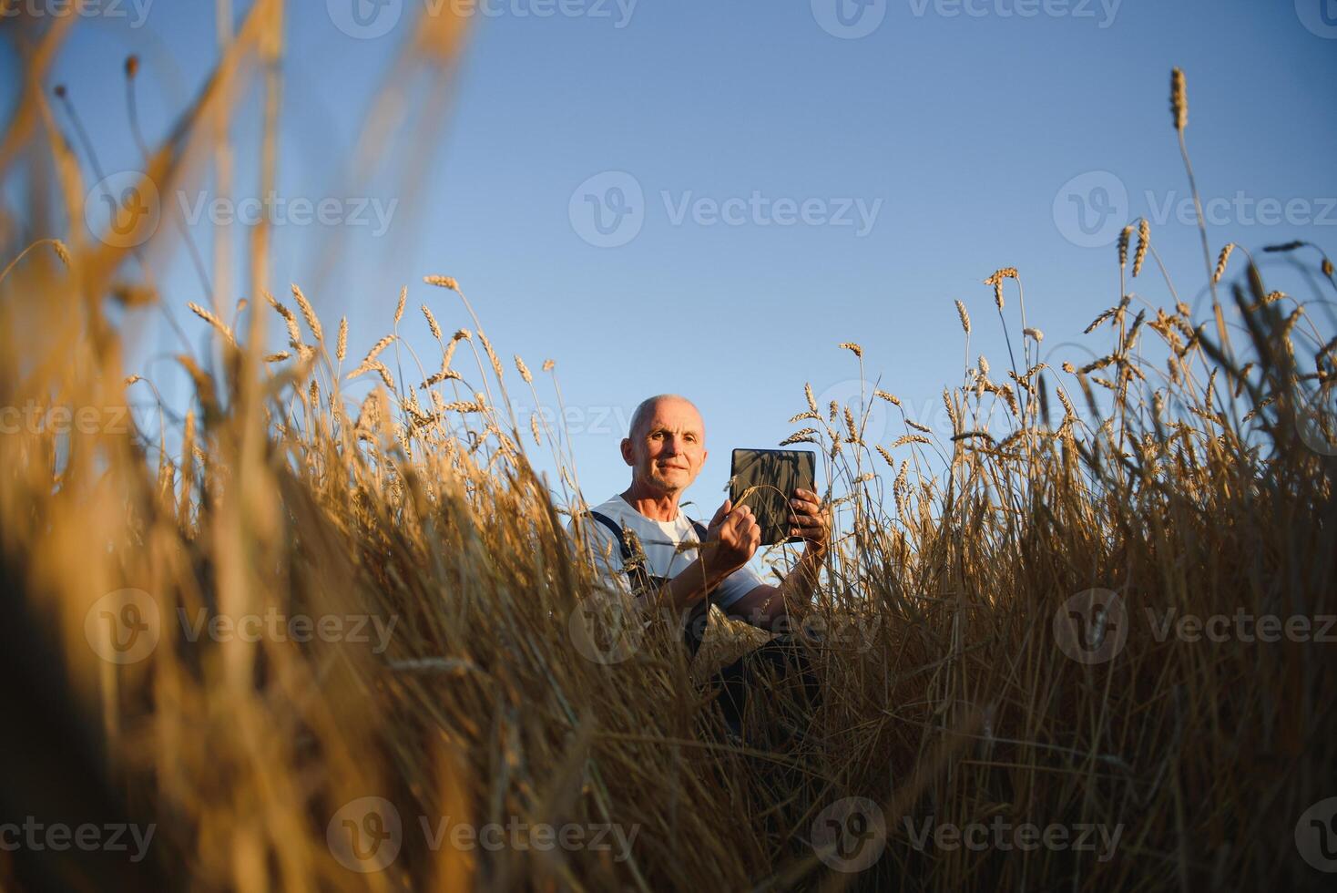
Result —
<instances>
[{"instance_id":1,"label":"bald elderly man in overalls crouching in the wheat","mask_svg":"<svg viewBox=\"0 0 1337 893\"><path fill-rule=\"evenodd\" d=\"M761 543L751 509L734 508L726 499L705 525L678 508L706 456L705 422L691 401L677 394L650 397L636 406L631 430L622 441L631 487L591 509L595 523L586 524L604 575L614 579L626 573L642 610L682 623L693 655L701 646L710 604L766 630L792 628L798 619L794 614L809 603L829 539L817 495L796 491L790 499L790 535L806 540L804 555L779 586L763 583L747 567ZM797 662L805 687L816 686L797 651L793 640L773 642L717 676L723 687L725 717L735 733L749 678L759 664L785 672Z\"/></svg>"}]
</instances>

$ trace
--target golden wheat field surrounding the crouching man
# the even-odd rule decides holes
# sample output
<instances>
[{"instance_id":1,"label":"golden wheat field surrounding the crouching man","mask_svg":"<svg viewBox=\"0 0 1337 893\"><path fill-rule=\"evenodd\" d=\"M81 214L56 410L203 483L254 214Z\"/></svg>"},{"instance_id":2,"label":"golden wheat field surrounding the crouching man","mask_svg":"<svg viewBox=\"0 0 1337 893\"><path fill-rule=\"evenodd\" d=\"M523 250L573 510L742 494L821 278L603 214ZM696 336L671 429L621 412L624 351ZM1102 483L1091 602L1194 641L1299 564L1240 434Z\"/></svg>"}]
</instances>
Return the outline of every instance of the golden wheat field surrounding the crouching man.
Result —
<instances>
[{"instance_id":1,"label":"golden wheat field surrounding the crouching man","mask_svg":"<svg viewBox=\"0 0 1337 893\"><path fill-rule=\"evenodd\" d=\"M166 176L179 152L163 152ZM1280 247L1317 267L1310 246ZM689 667L662 626L628 640L638 624L591 610L606 595L563 532L567 441L507 396L555 380L519 357L509 372L455 279L410 289L439 358L398 337L405 295L356 365L298 286L193 307L210 356L179 357L189 413L164 408L148 434L127 406L155 384L123 368L106 307L127 258L71 237L0 281L0 818L152 838L139 861L0 850L7 888L1326 880L1310 857L1332 810L1317 857L1301 819L1337 797L1337 644L1320 636L1337 632L1321 620L1337 614L1334 342L1251 262L1206 324L1174 297L1124 298L1083 368L1042 362L1028 329L1019 356L944 392L951 436L885 392L809 396L792 440L820 446L837 523L826 634L806 639L826 694L802 746L775 753L713 734L691 684L743 632L717 626ZM1321 274L1332 286L1326 258ZM1020 282L999 270L977 309ZM874 412L904 436L864 442ZM563 497L532 451L552 451ZM1241 614L1309 634L1249 636ZM1175 632L1215 615L1219 640ZM1068 844L1007 830L1028 823ZM539 827L583 837L544 845ZM979 827L1003 830L959 842Z\"/></svg>"}]
</instances>

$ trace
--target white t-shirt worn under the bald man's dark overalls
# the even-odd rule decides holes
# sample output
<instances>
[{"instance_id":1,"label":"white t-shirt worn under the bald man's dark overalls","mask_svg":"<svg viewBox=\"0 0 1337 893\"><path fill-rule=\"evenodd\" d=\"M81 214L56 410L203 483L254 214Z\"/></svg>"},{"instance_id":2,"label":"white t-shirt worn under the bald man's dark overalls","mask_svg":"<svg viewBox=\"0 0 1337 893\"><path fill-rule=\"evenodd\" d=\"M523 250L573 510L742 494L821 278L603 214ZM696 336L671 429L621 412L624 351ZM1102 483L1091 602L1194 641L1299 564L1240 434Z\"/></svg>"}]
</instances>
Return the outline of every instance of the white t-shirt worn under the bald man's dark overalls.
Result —
<instances>
[{"instance_id":1,"label":"white t-shirt worn under the bald man's dark overalls","mask_svg":"<svg viewBox=\"0 0 1337 893\"><path fill-rule=\"evenodd\" d=\"M697 531L691 525L691 519L683 515L682 509L678 511L678 517L673 521L655 521L634 509L622 496L614 496L606 503L595 505L591 511L599 512L611 519L614 524L635 532L646 552L646 573L651 576L675 578L697 560L697 549L694 548L677 551L678 544L685 540L697 541ZM599 569L610 580L618 578L626 580L622 569L622 549L612 531L592 517L582 520ZM572 525L574 523L568 524L567 529L572 529ZM763 584L765 580L745 564L714 588L710 602L721 608L727 608Z\"/></svg>"}]
</instances>

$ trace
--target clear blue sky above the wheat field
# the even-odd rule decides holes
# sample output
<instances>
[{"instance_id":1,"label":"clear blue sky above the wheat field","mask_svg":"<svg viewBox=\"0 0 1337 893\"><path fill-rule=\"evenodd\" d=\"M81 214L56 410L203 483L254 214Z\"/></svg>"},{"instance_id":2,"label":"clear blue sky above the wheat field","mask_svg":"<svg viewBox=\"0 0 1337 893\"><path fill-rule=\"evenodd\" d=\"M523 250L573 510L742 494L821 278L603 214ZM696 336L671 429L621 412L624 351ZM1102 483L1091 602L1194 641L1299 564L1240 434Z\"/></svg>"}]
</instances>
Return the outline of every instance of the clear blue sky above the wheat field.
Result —
<instances>
[{"instance_id":1,"label":"clear blue sky above the wheat field","mask_svg":"<svg viewBox=\"0 0 1337 893\"><path fill-rule=\"evenodd\" d=\"M882 0L865 9L845 0L841 11L834 0L639 0L630 11L627 0L566 0L582 15L550 17L519 13L563 7L495 0L496 15L476 17L449 122L427 148L431 174L409 188L377 176L361 193L349 191L341 164L412 19L436 0L389 0L380 13L393 16L397 3L398 19L372 19L393 21L372 39L337 27L352 21L352 1L290 4L279 193L398 205L384 234L345 227L324 278L317 249L333 227L282 227L274 282L320 282L312 297L326 329L350 315L356 360L388 332L404 283L420 350L422 301L445 328L465 325L452 295L421 285L429 273L457 277L504 357L520 353L535 370L556 360L578 429L588 429L574 445L592 501L624 487L616 444L631 409L673 390L705 413L711 457L689 496L713 509L729 451L785 437L805 381L818 394L857 389L841 341L860 342L866 377L941 428L941 388L963 373L952 299L973 317L971 362L984 352L1001 368L1001 332L980 281L1016 266L1046 349L1076 356L1059 345L1118 299L1110 243L1138 215L1151 218L1154 243L1191 299L1205 273L1197 229L1175 219L1189 193L1170 123L1173 66L1189 76L1199 186L1226 199L1210 226L1213 254L1227 241L1257 249L1292 238L1337 251L1333 0ZM124 17L83 23L51 78L70 86L107 171L138 166L124 53L143 57L151 142L217 57L211 4L156 0L139 27L130 0L123 8ZM837 12L870 32L830 33L842 28ZM7 45L5 111L16 64ZM258 108L251 96L235 127L239 195L255 194ZM389 167L406 163L404 150ZM592 202L611 226L622 218L608 190L628 180L579 187L608 171L628 174L643 198L623 188L623 226L639 230L630 241L631 230L614 230L611 241L626 243L599 247ZM4 183L7 207L23 197L23 183ZM731 209L731 222L713 217L710 202ZM209 257L210 225L194 231ZM189 320L185 302L202 295L175 257L167 298ZM1277 258L1269 286L1312 297ZM1135 287L1167 301L1158 278L1144 274ZM1016 310L1012 299L1013 345ZM1330 334L1332 317L1314 313ZM146 345L146 354L175 348L155 329ZM167 362L146 369L172 390ZM881 440L900 433L889 425Z\"/></svg>"}]
</instances>

